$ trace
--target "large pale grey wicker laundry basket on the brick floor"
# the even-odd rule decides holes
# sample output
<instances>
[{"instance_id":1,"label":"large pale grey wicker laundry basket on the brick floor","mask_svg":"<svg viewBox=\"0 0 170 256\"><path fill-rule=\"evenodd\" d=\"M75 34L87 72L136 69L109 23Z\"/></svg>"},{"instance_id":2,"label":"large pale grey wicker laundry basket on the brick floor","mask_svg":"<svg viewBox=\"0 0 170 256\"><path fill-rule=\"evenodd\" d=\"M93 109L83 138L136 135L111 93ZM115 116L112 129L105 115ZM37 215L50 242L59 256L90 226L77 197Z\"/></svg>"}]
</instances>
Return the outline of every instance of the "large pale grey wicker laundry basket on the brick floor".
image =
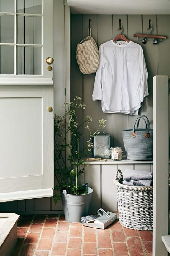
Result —
<instances>
[{"instance_id":1,"label":"large pale grey wicker laundry basket on the brick floor","mask_svg":"<svg viewBox=\"0 0 170 256\"><path fill-rule=\"evenodd\" d=\"M126 186L121 184L121 170L116 173L119 222L122 226L136 230L153 229L153 186Z\"/></svg>"}]
</instances>

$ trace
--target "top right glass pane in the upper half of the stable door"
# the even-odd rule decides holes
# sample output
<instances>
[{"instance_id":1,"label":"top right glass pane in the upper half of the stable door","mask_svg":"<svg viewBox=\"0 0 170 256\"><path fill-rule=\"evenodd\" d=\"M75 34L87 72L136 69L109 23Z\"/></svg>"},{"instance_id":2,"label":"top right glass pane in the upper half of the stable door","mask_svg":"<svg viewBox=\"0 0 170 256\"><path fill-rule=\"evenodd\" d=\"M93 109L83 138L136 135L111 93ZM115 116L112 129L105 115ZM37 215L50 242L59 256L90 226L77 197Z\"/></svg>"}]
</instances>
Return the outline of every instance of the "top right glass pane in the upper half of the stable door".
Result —
<instances>
[{"instance_id":1,"label":"top right glass pane in the upper half of the stable door","mask_svg":"<svg viewBox=\"0 0 170 256\"><path fill-rule=\"evenodd\" d=\"M42 0L17 0L17 13L42 14Z\"/></svg>"}]
</instances>

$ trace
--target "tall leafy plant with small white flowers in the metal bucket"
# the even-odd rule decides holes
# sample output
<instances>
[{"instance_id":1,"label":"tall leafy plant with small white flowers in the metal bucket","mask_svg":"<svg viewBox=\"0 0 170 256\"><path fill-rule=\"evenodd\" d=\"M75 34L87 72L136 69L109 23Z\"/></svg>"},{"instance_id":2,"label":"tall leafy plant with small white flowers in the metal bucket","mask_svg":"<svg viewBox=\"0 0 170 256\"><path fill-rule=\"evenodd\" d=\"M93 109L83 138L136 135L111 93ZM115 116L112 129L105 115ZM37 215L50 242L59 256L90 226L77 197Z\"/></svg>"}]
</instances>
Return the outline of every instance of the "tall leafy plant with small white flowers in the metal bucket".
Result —
<instances>
[{"instance_id":1,"label":"tall leafy plant with small white flowers in the metal bucket","mask_svg":"<svg viewBox=\"0 0 170 256\"><path fill-rule=\"evenodd\" d=\"M105 119L99 120L98 129L94 133L90 131L90 123L92 122L91 116L86 116L84 120L80 123L77 118L78 111L84 111L86 107L85 102L82 98L76 96L73 102L67 102L64 104L63 108L65 114L63 116L55 116L55 132L61 140L61 143L55 143L56 148L56 179L58 181L57 189L67 189L68 194L79 194L81 189L78 183L78 177L84 172L85 161L83 158L91 152L93 148L92 138L94 135L98 134L100 128L105 128ZM82 112L81 112L82 113ZM62 125L65 124L65 132L61 132ZM89 140L84 148L80 146L81 138L83 137L82 129L89 130ZM62 129L64 130L64 129ZM67 134L70 133L70 136ZM67 139L69 141L67 142ZM66 151L66 147L69 148L70 155L68 159L63 157L63 153ZM71 164L74 165L74 169L71 168ZM80 169L81 168L81 169ZM64 174L65 173L65 174ZM81 191L81 194L84 193Z\"/></svg>"}]
</instances>

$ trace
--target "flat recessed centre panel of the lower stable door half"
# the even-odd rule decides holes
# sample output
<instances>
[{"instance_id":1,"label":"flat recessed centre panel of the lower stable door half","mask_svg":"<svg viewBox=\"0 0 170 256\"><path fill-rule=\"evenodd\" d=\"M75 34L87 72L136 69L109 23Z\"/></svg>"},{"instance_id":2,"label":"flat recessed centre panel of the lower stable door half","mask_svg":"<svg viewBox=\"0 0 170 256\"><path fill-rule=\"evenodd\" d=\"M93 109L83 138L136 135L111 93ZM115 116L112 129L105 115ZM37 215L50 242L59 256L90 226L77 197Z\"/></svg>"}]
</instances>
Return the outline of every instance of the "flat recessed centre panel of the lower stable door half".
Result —
<instances>
[{"instance_id":1,"label":"flat recessed centre panel of the lower stable door half","mask_svg":"<svg viewBox=\"0 0 170 256\"><path fill-rule=\"evenodd\" d=\"M0 109L1 178L42 175L42 97L1 98Z\"/></svg>"}]
</instances>

